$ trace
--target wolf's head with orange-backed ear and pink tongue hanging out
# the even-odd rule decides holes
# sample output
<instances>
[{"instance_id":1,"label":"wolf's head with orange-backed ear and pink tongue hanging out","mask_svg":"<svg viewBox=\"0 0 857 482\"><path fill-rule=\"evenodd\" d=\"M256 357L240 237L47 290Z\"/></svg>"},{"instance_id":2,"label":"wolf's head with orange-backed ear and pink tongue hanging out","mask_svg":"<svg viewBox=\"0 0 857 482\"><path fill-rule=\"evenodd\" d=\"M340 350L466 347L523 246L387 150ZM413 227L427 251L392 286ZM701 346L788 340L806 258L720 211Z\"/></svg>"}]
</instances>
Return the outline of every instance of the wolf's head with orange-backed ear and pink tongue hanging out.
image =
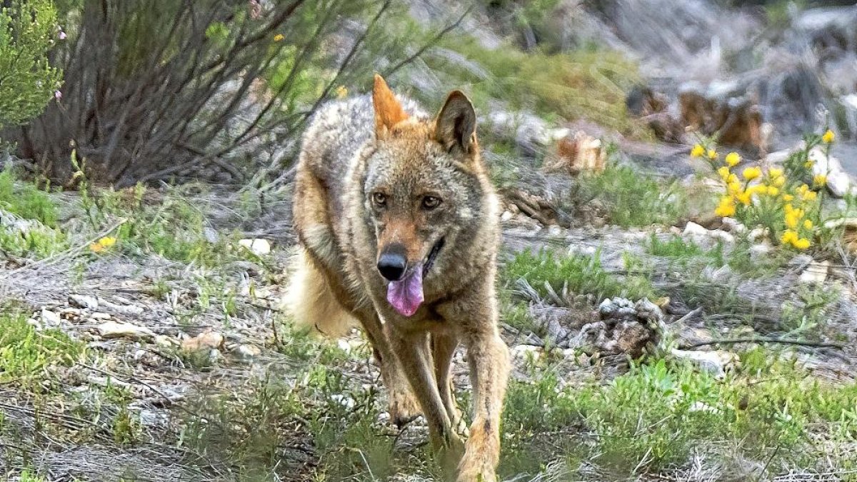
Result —
<instances>
[{"instance_id":1,"label":"wolf's head with orange-backed ear and pink tongue hanging out","mask_svg":"<svg viewBox=\"0 0 857 482\"><path fill-rule=\"evenodd\" d=\"M409 117L380 75L372 100L376 142L363 202L375 227L387 300L411 316L423 303L423 279L433 277L445 250L482 214L476 112L456 90L433 120Z\"/></svg>"}]
</instances>

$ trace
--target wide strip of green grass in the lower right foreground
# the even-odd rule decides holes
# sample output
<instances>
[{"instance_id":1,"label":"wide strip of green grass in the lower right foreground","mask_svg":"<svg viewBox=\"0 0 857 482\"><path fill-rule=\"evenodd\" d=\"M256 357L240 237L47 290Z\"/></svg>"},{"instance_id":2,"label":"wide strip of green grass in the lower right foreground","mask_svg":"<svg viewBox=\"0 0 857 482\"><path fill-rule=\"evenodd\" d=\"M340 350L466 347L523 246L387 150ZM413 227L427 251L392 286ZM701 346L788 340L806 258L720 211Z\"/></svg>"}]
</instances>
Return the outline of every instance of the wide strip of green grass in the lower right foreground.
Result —
<instances>
[{"instance_id":1,"label":"wide strip of green grass in the lower right foreground","mask_svg":"<svg viewBox=\"0 0 857 482\"><path fill-rule=\"evenodd\" d=\"M512 382L504 430L515 435L503 448L502 472L536 473L550 460L584 458L620 479L680 466L694 449L734 456L716 454L724 445L751 460L812 467L819 454L811 434L854 437L857 385L818 383L761 351L745 353L742 365L746 375L725 381L658 360L607 385L562 388L550 371L534 383ZM842 464L853 463L850 457Z\"/></svg>"}]
</instances>

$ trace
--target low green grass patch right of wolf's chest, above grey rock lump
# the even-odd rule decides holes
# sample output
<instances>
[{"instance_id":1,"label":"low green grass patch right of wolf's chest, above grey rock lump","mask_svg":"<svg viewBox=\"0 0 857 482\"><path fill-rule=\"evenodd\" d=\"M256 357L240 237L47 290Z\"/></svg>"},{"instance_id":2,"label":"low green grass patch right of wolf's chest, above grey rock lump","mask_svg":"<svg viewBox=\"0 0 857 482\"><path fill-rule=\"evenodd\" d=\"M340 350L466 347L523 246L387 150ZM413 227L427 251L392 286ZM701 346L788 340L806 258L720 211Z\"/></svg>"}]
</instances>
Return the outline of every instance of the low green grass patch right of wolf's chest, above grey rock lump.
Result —
<instances>
[{"instance_id":1,"label":"low green grass patch right of wolf's chest, above grey rock lump","mask_svg":"<svg viewBox=\"0 0 857 482\"><path fill-rule=\"evenodd\" d=\"M554 292L567 286L575 294L591 294L597 301L621 296L625 298L656 298L657 293L643 276L628 275L620 279L608 273L601 264L600 255L562 256L549 250L533 253L524 250L506 262L501 270L506 289L512 289L516 280L524 279L542 296L548 295L545 284Z\"/></svg>"}]
</instances>

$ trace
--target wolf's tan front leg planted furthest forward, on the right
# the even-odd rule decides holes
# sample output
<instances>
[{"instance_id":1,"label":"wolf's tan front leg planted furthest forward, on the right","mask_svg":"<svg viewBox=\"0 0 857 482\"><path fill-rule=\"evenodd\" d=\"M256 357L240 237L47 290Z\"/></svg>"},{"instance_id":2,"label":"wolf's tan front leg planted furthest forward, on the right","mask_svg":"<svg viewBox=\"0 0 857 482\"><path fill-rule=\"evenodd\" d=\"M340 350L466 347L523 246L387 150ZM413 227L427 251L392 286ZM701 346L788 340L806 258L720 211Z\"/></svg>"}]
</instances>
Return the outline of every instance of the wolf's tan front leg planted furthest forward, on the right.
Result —
<instances>
[{"instance_id":1,"label":"wolf's tan front leg planted furthest forward, on the right","mask_svg":"<svg viewBox=\"0 0 857 482\"><path fill-rule=\"evenodd\" d=\"M470 438L458 465L458 482L494 482L500 461L500 413L509 376L509 351L491 316L465 328L462 335L474 402Z\"/></svg>"}]
</instances>

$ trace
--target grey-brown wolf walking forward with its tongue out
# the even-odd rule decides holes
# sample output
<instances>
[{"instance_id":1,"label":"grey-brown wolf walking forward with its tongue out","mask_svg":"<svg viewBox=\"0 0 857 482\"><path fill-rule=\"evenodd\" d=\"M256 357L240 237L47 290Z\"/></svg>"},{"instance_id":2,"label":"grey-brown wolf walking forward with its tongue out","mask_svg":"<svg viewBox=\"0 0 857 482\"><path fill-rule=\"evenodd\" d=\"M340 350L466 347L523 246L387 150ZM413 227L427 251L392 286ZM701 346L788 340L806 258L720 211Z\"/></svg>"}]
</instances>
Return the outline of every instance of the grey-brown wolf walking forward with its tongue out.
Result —
<instances>
[{"instance_id":1,"label":"grey-brown wolf walking forward with its tongue out","mask_svg":"<svg viewBox=\"0 0 857 482\"><path fill-rule=\"evenodd\" d=\"M499 203L470 99L454 90L430 117L375 75L371 95L323 105L302 142L286 309L330 336L359 322L393 422L422 411L458 482L496 480L509 372L494 286ZM469 429L450 374L459 344L474 392Z\"/></svg>"}]
</instances>

